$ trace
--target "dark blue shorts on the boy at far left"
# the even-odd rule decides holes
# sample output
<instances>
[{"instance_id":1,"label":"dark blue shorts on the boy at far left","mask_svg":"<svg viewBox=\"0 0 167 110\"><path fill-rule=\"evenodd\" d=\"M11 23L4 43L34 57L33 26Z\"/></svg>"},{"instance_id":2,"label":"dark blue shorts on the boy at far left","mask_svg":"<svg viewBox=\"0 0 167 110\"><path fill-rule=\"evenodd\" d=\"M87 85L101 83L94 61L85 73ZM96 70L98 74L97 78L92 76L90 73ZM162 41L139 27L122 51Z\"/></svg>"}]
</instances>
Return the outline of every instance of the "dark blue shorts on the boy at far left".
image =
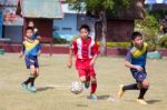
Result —
<instances>
[{"instance_id":1,"label":"dark blue shorts on the boy at far left","mask_svg":"<svg viewBox=\"0 0 167 110\"><path fill-rule=\"evenodd\" d=\"M27 69L30 69L31 66L35 66L35 68L39 68L37 56L26 56L24 62L26 62Z\"/></svg>"}]
</instances>

